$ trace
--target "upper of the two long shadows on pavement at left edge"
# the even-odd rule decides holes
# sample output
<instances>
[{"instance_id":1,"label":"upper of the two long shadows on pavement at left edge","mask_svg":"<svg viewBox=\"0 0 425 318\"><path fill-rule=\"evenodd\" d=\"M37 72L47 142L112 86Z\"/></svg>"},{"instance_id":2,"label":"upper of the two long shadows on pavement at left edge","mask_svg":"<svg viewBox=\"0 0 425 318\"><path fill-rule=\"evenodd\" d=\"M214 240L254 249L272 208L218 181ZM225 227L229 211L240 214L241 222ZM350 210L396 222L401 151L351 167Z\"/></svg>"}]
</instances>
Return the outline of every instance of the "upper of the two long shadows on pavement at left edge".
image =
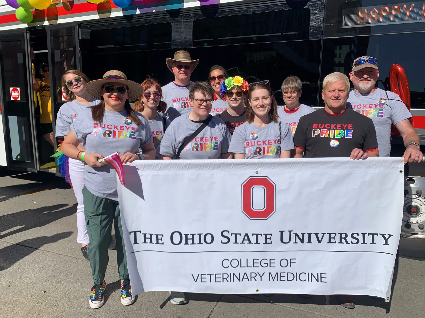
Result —
<instances>
[{"instance_id":1,"label":"upper of the two long shadows on pavement at left edge","mask_svg":"<svg viewBox=\"0 0 425 318\"><path fill-rule=\"evenodd\" d=\"M65 208L66 206L68 205L61 203L50 206L43 206L42 208L0 215L0 233L8 231L11 228L17 226L20 227L13 231L0 234L0 239L31 230L32 228L38 228L47 225L51 222L62 219L62 217L68 217L77 211L77 203L68 208Z\"/></svg>"}]
</instances>

